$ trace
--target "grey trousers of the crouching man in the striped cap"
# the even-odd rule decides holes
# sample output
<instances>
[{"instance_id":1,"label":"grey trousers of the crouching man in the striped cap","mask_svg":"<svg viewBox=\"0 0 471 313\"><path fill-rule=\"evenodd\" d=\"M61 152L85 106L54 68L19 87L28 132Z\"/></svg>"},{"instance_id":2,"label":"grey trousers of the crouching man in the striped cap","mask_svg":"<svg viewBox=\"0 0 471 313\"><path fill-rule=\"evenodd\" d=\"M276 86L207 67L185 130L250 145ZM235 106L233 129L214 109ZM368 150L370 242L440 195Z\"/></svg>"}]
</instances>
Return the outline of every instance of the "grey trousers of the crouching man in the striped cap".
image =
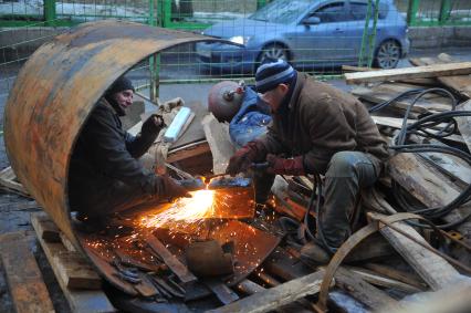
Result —
<instances>
[{"instance_id":1,"label":"grey trousers of the crouching man in the striped cap","mask_svg":"<svg viewBox=\"0 0 471 313\"><path fill-rule=\"evenodd\" d=\"M339 247L350 234L350 216L359 190L370 187L378 179L381 163L373 155L360 152L336 153L327 167L324 180L324 205L321 211L321 227L331 247ZM255 201L266 201L274 175L257 171Z\"/></svg>"}]
</instances>

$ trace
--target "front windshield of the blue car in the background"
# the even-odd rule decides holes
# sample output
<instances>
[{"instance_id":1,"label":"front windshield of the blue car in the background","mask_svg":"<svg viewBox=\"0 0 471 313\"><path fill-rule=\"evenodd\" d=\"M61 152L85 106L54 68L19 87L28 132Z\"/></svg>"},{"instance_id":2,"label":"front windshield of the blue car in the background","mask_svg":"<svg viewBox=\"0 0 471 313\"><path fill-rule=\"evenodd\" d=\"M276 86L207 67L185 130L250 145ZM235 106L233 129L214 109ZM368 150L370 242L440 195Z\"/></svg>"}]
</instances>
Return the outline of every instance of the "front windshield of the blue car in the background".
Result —
<instances>
[{"instance_id":1,"label":"front windshield of the blue car in the background","mask_svg":"<svg viewBox=\"0 0 471 313\"><path fill-rule=\"evenodd\" d=\"M303 14L312 3L312 0L278 0L258 10L249 19L289 24Z\"/></svg>"}]
</instances>

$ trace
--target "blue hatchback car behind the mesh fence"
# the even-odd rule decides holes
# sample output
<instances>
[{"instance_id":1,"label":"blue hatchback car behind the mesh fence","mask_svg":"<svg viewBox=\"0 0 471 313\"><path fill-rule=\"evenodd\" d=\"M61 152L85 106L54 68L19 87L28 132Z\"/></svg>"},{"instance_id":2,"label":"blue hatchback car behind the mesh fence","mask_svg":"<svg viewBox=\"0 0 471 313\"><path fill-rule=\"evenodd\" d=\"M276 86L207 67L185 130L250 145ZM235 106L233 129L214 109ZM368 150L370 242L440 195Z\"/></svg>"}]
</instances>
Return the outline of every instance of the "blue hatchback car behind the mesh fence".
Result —
<instances>
[{"instance_id":1,"label":"blue hatchback car behind the mesh fence","mask_svg":"<svg viewBox=\"0 0 471 313\"><path fill-rule=\"evenodd\" d=\"M265 58L284 59L297 69L356 65L367 7L367 0L274 0L248 18L202 32L243 46L198 43L197 58L210 70L245 73ZM409 51L407 23L393 0L381 0L378 12L374 66L394 69ZM368 34L373 23L371 14Z\"/></svg>"}]
</instances>

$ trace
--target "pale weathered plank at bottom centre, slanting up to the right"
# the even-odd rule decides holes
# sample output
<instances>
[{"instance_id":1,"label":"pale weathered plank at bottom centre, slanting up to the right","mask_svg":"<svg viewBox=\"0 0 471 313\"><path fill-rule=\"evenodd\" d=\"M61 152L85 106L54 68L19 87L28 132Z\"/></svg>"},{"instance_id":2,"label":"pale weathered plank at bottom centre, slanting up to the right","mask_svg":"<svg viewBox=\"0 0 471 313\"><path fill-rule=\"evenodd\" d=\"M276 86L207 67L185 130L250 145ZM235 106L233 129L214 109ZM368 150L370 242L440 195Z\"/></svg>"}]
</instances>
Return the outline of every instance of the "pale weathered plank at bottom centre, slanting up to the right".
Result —
<instances>
[{"instance_id":1,"label":"pale weathered plank at bottom centre, slanting up to the right","mask_svg":"<svg viewBox=\"0 0 471 313\"><path fill-rule=\"evenodd\" d=\"M207 312L269 312L306 295L316 294L321 290L323 277L324 271L321 270Z\"/></svg>"}]
</instances>

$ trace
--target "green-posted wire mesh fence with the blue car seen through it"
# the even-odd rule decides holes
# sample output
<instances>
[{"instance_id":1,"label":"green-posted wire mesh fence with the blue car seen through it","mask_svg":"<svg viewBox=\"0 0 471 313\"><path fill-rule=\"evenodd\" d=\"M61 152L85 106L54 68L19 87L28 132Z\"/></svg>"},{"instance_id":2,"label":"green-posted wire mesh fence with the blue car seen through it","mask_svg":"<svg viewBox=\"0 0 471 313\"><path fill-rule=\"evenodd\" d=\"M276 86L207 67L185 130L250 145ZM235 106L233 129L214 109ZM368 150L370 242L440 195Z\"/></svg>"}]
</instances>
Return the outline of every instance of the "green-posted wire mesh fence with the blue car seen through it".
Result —
<instances>
[{"instance_id":1,"label":"green-posted wire mesh fence with the blue car seen through it","mask_svg":"<svg viewBox=\"0 0 471 313\"><path fill-rule=\"evenodd\" d=\"M135 74L148 85L252 77L266 58L324 76L344 64L394 67L409 50L407 22L471 23L470 8L467 0L0 0L0 93L40 43L85 21L126 19L232 43L151 58Z\"/></svg>"}]
</instances>

